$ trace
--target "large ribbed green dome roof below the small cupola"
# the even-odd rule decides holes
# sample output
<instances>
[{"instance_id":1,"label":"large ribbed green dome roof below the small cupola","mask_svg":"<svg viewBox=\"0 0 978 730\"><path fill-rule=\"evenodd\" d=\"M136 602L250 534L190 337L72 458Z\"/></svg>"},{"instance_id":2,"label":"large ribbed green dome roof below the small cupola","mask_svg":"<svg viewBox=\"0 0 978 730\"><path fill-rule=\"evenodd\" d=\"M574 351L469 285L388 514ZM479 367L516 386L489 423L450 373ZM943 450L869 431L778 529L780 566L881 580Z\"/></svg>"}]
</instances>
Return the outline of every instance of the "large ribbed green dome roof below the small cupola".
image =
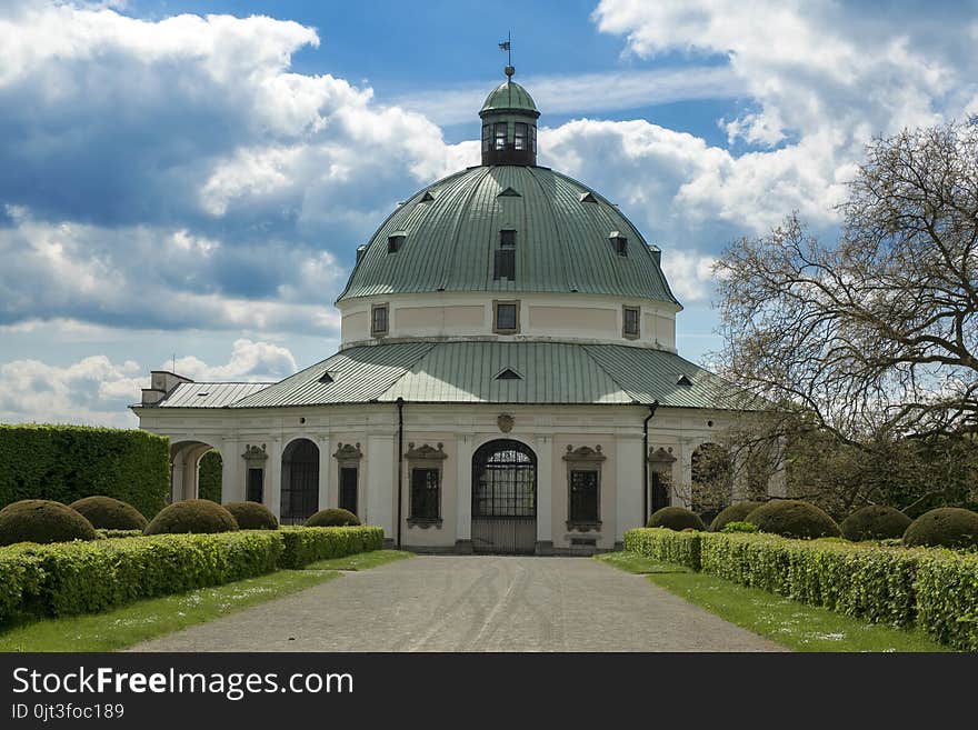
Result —
<instances>
[{"instance_id":1,"label":"large ribbed green dome roof below the small cupola","mask_svg":"<svg viewBox=\"0 0 978 730\"><path fill-rule=\"evenodd\" d=\"M517 232L513 280L493 279L501 230ZM612 234L627 239L627 256L616 252ZM567 176L520 164L468 168L415 193L370 239L339 301L437 291L678 304L657 257L616 206Z\"/></svg>"}]
</instances>

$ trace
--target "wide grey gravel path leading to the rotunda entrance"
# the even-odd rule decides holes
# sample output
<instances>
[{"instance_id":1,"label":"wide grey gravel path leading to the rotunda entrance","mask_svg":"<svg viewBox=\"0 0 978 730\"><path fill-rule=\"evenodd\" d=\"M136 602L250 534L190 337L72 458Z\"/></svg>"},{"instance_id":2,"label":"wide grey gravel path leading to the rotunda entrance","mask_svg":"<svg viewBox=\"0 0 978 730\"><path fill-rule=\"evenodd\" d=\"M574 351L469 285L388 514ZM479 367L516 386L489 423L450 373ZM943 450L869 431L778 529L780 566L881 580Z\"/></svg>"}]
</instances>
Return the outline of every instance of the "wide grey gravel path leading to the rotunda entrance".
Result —
<instances>
[{"instance_id":1,"label":"wide grey gravel path leading to the rotunda entrance","mask_svg":"<svg viewBox=\"0 0 978 730\"><path fill-rule=\"evenodd\" d=\"M785 651L585 558L420 556L133 651Z\"/></svg>"}]
</instances>

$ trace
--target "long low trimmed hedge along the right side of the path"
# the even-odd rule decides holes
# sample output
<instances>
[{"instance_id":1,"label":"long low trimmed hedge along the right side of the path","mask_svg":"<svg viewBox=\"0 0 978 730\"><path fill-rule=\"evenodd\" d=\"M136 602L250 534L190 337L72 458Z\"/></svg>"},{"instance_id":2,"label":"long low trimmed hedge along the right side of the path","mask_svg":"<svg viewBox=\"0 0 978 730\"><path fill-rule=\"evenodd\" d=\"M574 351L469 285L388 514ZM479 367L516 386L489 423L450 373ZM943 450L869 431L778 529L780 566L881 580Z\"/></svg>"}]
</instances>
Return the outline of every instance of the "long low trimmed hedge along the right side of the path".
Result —
<instances>
[{"instance_id":1,"label":"long low trimmed hedge along the right side of the path","mask_svg":"<svg viewBox=\"0 0 978 730\"><path fill-rule=\"evenodd\" d=\"M978 651L976 553L648 528L628 530L625 548L867 621L916 624Z\"/></svg>"}]
</instances>

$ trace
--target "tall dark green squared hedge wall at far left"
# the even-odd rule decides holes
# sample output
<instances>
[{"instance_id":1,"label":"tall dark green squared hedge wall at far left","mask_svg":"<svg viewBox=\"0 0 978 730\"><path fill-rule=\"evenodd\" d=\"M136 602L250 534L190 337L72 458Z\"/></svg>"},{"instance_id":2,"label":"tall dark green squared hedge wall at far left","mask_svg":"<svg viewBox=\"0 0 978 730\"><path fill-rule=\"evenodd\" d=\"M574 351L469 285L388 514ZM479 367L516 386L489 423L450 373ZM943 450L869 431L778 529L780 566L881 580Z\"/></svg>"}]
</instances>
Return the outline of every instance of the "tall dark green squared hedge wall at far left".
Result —
<instances>
[{"instance_id":1,"label":"tall dark green squared hedge wall at far left","mask_svg":"<svg viewBox=\"0 0 978 730\"><path fill-rule=\"evenodd\" d=\"M170 491L169 440L136 429L0 424L0 507L107 494L151 517Z\"/></svg>"}]
</instances>

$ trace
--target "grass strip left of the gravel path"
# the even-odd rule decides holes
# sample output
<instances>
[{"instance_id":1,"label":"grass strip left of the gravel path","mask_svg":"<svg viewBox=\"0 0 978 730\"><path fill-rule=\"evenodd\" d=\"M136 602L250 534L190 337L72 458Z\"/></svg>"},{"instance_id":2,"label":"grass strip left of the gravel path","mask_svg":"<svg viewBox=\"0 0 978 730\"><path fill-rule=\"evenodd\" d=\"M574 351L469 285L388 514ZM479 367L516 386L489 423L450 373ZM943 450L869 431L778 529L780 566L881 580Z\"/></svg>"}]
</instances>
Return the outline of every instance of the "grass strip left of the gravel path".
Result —
<instances>
[{"instance_id":1,"label":"grass strip left of the gravel path","mask_svg":"<svg viewBox=\"0 0 978 730\"><path fill-rule=\"evenodd\" d=\"M280 570L90 616L46 619L0 631L0 651L114 651L339 578Z\"/></svg>"}]
</instances>

